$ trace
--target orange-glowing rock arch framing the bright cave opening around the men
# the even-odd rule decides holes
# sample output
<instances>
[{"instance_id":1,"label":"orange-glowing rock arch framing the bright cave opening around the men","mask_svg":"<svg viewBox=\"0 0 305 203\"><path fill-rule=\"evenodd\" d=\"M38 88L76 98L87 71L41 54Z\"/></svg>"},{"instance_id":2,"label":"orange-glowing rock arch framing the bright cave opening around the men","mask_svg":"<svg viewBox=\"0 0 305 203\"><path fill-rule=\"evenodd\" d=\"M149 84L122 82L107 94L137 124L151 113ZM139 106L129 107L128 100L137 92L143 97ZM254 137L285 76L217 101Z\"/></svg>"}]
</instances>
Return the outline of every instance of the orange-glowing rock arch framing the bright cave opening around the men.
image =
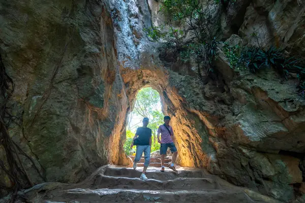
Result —
<instances>
[{"instance_id":1,"label":"orange-glowing rock arch framing the bright cave opening around the men","mask_svg":"<svg viewBox=\"0 0 305 203\"><path fill-rule=\"evenodd\" d=\"M131 158L124 151L127 115L133 110L137 92L142 88L151 87L160 94L163 114L171 117L175 144L178 149L177 164L207 167L215 154L215 149L208 141L209 134L214 133L214 129L199 111L188 109L186 101L178 93L178 87L169 85L171 78L166 71L162 69L126 70L122 77L126 87L128 107L123 129L120 131L120 136L116 135L116 139L119 138L119 159L118 162L112 163L118 165L132 163Z\"/></svg>"}]
</instances>

